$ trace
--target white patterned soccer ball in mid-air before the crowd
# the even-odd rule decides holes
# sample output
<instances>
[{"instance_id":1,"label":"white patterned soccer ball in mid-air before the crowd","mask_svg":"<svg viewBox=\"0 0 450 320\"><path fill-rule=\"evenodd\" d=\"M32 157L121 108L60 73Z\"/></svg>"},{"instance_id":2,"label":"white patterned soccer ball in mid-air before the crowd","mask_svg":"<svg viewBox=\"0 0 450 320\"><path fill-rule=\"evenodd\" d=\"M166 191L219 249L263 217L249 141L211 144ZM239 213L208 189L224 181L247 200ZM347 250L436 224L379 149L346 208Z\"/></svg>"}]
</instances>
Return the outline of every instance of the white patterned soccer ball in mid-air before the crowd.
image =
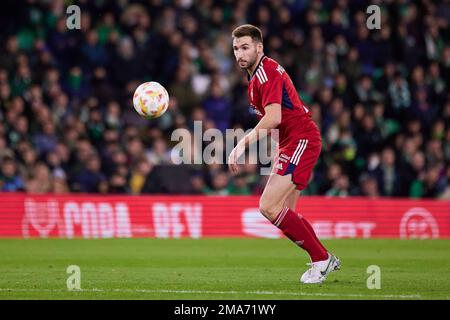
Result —
<instances>
[{"instance_id":1,"label":"white patterned soccer ball in mid-air before the crowd","mask_svg":"<svg viewBox=\"0 0 450 320\"><path fill-rule=\"evenodd\" d=\"M155 119L166 112L169 94L158 82L144 82L133 95L134 109L146 119Z\"/></svg>"}]
</instances>

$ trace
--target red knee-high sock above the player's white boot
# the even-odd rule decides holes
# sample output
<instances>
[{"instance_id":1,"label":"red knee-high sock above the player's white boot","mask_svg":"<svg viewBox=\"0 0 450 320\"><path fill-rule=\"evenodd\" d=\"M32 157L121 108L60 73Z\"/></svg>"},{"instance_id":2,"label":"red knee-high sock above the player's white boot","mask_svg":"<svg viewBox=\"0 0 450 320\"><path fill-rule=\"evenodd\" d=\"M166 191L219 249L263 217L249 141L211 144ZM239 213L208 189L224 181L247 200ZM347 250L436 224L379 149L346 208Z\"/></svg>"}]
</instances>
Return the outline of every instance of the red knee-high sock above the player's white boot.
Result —
<instances>
[{"instance_id":1,"label":"red knee-high sock above the player's white boot","mask_svg":"<svg viewBox=\"0 0 450 320\"><path fill-rule=\"evenodd\" d=\"M288 207L284 207L272 223L292 242L306 250L312 262L328 259L328 253L314 238L303 219Z\"/></svg>"}]
</instances>

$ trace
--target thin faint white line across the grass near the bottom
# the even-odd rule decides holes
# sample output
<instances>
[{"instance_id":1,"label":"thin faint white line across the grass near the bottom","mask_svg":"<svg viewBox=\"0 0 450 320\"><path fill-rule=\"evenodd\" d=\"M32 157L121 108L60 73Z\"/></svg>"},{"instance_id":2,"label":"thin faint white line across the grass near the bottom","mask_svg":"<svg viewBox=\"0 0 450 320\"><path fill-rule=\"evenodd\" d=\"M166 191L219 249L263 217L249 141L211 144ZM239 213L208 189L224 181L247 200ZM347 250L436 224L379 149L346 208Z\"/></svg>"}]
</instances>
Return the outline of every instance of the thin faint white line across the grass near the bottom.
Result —
<instances>
[{"instance_id":1,"label":"thin faint white line across the grass near the bottom","mask_svg":"<svg viewBox=\"0 0 450 320\"><path fill-rule=\"evenodd\" d=\"M420 299L421 295L395 295L395 294L349 294L349 293L309 293L309 292L283 292L283 291L204 291L204 290L150 290L150 289L80 289L80 290L64 290L64 289L12 289L0 288L0 292L123 292L123 293L174 293L174 294L230 294L230 295L268 295L268 296L303 296L303 297L347 297L347 298L393 298L393 299Z\"/></svg>"}]
</instances>

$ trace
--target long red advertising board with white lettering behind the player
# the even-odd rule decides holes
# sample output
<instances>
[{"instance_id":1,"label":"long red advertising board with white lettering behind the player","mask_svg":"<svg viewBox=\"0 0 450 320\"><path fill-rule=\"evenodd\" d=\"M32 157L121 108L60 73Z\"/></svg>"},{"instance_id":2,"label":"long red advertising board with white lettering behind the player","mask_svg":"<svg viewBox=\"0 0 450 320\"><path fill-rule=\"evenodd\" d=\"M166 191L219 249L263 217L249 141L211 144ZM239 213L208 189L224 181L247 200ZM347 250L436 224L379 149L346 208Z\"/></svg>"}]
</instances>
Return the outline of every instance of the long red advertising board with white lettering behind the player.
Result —
<instances>
[{"instance_id":1,"label":"long red advertising board with white lettering behind the player","mask_svg":"<svg viewBox=\"0 0 450 320\"><path fill-rule=\"evenodd\" d=\"M279 238L254 196L0 194L0 237ZM302 197L320 238L450 238L443 200Z\"/></svg>"}]
</instances>

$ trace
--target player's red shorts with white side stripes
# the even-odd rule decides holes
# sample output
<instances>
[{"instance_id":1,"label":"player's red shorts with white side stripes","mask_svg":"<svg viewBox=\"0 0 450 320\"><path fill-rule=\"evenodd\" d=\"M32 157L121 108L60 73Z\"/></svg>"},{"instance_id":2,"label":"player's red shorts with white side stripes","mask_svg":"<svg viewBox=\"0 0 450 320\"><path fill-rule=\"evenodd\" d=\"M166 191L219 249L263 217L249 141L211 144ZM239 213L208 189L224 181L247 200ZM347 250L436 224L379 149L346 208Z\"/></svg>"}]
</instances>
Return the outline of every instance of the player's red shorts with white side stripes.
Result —
<instances>
[{"instance_id":1,"label":"player's red shorts with white side stripes","mask_svg":"<svg viewBox=\"0 0 450 320\"><path fill-rule=\"evenodd\" d=\"M272 172L282 176L292 174L292 182L297 190L303 190L308 185L321 150L320 134L291 139L279 150Z\"/></svg>"}]
</instances>

